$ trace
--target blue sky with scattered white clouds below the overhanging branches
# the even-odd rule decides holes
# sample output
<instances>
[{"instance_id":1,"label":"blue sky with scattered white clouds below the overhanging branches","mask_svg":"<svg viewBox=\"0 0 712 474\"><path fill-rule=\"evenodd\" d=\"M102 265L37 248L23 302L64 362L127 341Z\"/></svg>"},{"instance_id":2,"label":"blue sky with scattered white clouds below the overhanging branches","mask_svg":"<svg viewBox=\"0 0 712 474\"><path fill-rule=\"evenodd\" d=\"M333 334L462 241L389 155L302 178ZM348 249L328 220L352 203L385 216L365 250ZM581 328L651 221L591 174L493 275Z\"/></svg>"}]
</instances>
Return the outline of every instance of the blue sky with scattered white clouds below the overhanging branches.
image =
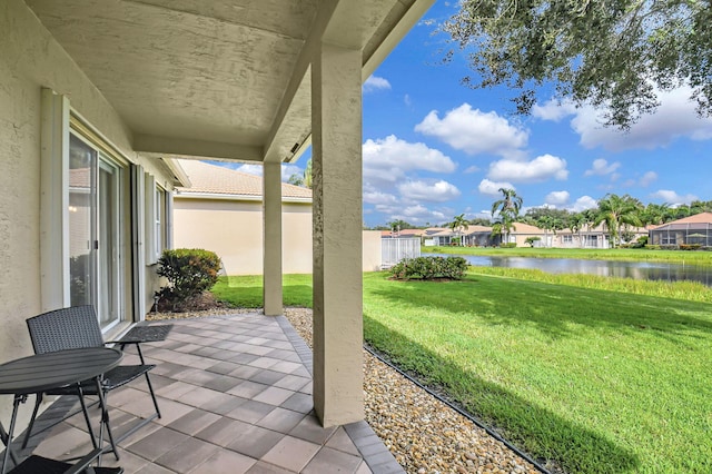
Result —
<instances>
[{"instance_id":1,"label":"blue sky with scattered white clouds below the overhanging branches","mask_svg":"<svg viewBox=\"0 0 712 474\"><path fill-rule=\"evenodd\" d=\"M471 89L464 55L442 63L436 24L457 8L442 0L364 85L364 221L435 225L487 217L501 187L528 207L595 207L606 192L643 203L712 199L712 119L689 91L661 95L657 112L627 134L597 112L543 93L532 116L513 115L506 89ZM308 154L283 169L301 172ZM259 166L238 169L259 174Z\"/></svg>"}]
</instances>

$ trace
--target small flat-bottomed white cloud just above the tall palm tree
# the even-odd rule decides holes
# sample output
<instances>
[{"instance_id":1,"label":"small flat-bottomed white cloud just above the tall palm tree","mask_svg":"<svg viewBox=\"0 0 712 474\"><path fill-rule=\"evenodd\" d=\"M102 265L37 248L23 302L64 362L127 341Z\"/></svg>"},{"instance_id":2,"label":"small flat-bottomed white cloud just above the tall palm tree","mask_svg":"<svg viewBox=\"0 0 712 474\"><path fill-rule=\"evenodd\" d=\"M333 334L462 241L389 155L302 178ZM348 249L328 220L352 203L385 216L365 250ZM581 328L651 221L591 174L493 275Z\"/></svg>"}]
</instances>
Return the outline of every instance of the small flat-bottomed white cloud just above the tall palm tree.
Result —
<instances>
[{"instance_id":1,"label":"small flat-bottomed white cloud just above the tall palm tree","mask_svg":"<svg viewBox=\"0 0 712 474\"><path fill-rule=\"evenodd\" d=\"M531 161L503 159L490 165L488 178L512 182L541 182L547 179L565 180L568 177L566 160L553 155L542 155Z\"/></svg>"}]
</instances>

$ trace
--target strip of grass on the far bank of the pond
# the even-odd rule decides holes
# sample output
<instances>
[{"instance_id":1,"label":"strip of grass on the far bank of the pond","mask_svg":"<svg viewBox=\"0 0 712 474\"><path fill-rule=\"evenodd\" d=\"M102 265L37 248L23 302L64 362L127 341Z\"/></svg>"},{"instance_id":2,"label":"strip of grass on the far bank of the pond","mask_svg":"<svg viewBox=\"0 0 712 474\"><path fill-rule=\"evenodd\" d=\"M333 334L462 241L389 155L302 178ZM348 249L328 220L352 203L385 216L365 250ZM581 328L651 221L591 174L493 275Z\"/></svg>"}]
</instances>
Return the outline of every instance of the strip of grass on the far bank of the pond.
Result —
<instances>
[{"instance_id":1,"label":"strip of grass on the far bank of the pond","mask_svg":"<svg viewBox=\"0 0 712 474\"><path fill-rule=\"evenodd\" d=\"M664 261L669 264L712 266L712 251L702 250L649 250L645 248L423 247L423 251L428 254L483 255L498 257Z\"/></svg>"}]
</instances>

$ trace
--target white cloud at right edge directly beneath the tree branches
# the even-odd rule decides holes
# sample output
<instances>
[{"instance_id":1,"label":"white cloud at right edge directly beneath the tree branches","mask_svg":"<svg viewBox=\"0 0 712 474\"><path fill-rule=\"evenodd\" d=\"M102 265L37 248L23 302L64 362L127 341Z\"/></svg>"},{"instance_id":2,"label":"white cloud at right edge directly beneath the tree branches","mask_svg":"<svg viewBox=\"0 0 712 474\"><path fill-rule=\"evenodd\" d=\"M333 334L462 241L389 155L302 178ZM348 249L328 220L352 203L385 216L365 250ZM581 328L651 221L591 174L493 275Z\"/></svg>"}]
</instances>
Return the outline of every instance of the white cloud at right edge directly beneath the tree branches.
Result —
<instances>
[{"instance_id":1,"label":"white cloud at right edge directly beneath the tree branches","mask_svg":"<svg viewBox=\"0 0 712 474\"><path fill-rule=\"evenodd\" d=\"M586 148L602 147L611 151L654 149L683 137L691 140L712 139L712 118L700 118L694 110L695 102L689 98L690 88L686 87L659 92L661 105L655 113L642 116L627 132L604 127L603 112L592 107L573 111L563 109L562 113L573 113L571 126L581 136L581 145Z\"/></svg>"}]
</instances>

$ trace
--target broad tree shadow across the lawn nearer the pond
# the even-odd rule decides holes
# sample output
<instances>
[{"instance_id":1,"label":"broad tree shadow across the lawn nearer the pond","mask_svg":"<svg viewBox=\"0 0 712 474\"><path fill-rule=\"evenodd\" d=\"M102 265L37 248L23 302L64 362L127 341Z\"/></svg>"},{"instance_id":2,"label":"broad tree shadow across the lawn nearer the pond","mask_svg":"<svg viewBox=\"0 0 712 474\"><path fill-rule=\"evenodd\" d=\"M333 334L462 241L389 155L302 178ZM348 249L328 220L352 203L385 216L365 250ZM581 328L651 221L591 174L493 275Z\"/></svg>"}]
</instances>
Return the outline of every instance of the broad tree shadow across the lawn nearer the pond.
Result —
<instances>
[{"instance_id":1,"label":"broad tree shadow across the lawn nearer the pond","mask_svg":"<svg viewBox=\"0 0 712 474\"><path fill-rule=\"evenodd\" d=\"M453 314L476 314L495 325L533 325L543 335L558 338L577 327L644 332L680 343L676 336L712 333L708 315L712 305L654 296L576 288L571 286L468 276L462 282L388 282L374 285L370 296L403 307L431 308ZM700 317L696 317L699 314Z\"/></svg>"}]
</instances>

